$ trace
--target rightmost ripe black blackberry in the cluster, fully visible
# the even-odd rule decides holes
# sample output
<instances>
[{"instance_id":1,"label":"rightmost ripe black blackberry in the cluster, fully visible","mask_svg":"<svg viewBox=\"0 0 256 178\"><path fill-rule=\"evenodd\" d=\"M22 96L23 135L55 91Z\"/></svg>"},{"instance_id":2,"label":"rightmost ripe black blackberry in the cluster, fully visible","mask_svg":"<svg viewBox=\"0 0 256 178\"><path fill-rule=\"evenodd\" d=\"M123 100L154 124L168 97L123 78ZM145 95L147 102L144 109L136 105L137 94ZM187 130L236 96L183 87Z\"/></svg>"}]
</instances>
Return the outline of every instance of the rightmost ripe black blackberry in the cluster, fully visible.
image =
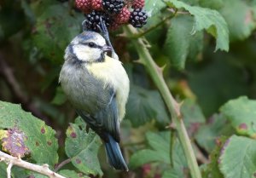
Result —
<instances>
[{"instance_id":1,"label":"rightmost ripe black blackberry in the cluster, fully visible","mask_svg":"<svg viewBox=\"0 0 256 178\"><path fill-rule=\"evenodd\" d=\"M148 14L143 12L143 9L134 9L130 14L129 23L137 28L147 24Z\"/></svg>"}]
</instances>

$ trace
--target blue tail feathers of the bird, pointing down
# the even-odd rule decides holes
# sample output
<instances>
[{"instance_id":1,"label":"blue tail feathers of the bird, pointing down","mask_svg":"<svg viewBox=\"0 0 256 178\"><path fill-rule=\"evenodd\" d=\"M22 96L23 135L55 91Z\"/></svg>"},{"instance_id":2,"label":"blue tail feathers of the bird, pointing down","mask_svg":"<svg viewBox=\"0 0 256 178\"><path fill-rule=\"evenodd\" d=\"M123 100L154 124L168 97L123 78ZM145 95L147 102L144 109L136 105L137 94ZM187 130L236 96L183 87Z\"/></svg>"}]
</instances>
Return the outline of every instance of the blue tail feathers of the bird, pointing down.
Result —
<instances>
[{"instance_id":1,"label":"blue tail feathers of the bird, pointing down","mask_svg":"<svg viewBox=\"0 0 256 178\"><path fill-rule=\"evenodd\" d=\"M122 152L120 151L118 142L114 141L111 135L108 135L108 140L109 141L105 143L105 148L109 164L111 164L114 169L128 171L128 167L125 163Z\"/></svg>"}]
</instances>

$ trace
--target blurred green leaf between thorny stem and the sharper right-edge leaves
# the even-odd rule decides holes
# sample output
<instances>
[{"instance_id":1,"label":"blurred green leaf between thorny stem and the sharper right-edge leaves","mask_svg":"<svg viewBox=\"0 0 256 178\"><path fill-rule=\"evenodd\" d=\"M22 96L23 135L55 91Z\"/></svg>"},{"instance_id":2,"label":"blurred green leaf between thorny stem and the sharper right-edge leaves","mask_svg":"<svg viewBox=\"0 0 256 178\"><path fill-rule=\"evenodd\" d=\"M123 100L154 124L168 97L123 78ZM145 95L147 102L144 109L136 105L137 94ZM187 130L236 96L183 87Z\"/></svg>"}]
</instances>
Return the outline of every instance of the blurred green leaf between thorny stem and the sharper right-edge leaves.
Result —
<instances>
[{"instance_id":1,"label":"blurred green leaf between thorny stem and the sharper right-edge leaves","mask_svg":"<svg viewBox=\"0 0 256 178\"><path fill-rule=\"evenodd\" d=\"M212 152L216 146L216 141L220 136L230 136L234 133L233 128L222 114L214 114L206 124L201 125L196 132L195 140L197 143L207 150Z\"/></svg>"}]
</instances>

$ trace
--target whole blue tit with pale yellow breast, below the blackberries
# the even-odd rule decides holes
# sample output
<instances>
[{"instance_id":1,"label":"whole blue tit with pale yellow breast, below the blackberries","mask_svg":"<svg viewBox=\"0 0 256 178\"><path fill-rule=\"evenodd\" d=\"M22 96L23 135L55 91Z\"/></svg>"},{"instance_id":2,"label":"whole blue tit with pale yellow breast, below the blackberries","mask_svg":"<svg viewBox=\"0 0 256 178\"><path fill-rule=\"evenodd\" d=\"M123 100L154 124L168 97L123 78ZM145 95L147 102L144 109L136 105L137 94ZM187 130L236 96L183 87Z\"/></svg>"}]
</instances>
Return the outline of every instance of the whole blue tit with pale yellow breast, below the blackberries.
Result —
<instances>
[{"instance_id":1,"label":"whole blue tit with pale yellow breast, below the blackberries","mask_svg":"<svg viewBox=\"0 0 256 178\"><path fill-rule=\"evenodd\" d=\"M76 112L102 138L108 163L128 171L119 148L119 123L125 117L130 83L119 60L97 32L82 32L67 46L60 83Z\"/></svg>"}]
</instances>

